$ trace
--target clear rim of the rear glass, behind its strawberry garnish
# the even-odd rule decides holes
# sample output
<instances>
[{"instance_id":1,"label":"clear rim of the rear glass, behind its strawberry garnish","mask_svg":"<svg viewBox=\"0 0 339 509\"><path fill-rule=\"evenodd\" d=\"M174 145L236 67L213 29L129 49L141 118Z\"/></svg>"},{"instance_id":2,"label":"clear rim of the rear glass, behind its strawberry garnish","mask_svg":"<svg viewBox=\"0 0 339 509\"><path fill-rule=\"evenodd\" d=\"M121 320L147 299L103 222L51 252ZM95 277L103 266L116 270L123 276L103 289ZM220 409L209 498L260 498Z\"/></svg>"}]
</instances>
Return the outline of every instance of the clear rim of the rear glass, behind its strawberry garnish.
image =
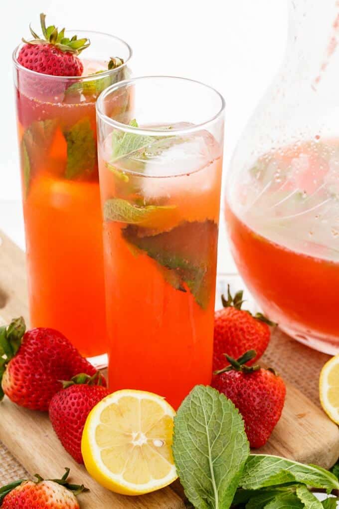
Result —
<instances>
[{"instance_id":1,"label":"clear rim of the rear glass, behind its strawberry garnish","mask_svg":"<svg viewBox=\"0 0 339 509\"><path fill-rule=\"evenodd\" d=\"M67 81L67 80L72 80L74 81L75 79L77 81L93 81L95 79L101 79L101 78L104 78L106 76L111 76L112 74L115 74L117 73L118 71L120 71L121 69L124 69L125 67L127 67L127 64L128 62L131 60L132 58L132 55L133 55L133 50L131 48L131 46L126 42L124 41L124 39L120 39L120 37L117 37L115 35L112 35L112 34L107 34L106 32L97 32L95 30L73 30L73 29L70 29L70 30L67 30L66 32L76 32L77 34L79 33L83 33L83 34L95 34L95 35L99 35L99 36L107 36L109 37L110 39L112 40L115 40L115 41L118 41L118 42L121 42L122 44L124 44L128 50L128 58L126 59L126 61L124 61L124 64L120 65L119 67L116 67L115 69L107 69L107 71L103 71L103 72L100 72L98 74L88 74L87 76L54 76L54 75L51 75L51 74L45 74L45 73L42 73L42 72L37 72L37 71L33 71L32 69L27 69L26 67L24 67L23 65L21 65L18 60L17 60L17 53L20 49L20 47L24 44L23 42L21 42L20 44L18 44L18 46L16 46L12 52L12 61L15 65L15 67L17 69L20 69L24 72L27 72L28 74L31 74L32 76L37 76L37 77L41 77L43 76L44 78L47 78L47 79L53 79L53 80L64 80L64 81Z\"/></svg>"}]
</instances>

